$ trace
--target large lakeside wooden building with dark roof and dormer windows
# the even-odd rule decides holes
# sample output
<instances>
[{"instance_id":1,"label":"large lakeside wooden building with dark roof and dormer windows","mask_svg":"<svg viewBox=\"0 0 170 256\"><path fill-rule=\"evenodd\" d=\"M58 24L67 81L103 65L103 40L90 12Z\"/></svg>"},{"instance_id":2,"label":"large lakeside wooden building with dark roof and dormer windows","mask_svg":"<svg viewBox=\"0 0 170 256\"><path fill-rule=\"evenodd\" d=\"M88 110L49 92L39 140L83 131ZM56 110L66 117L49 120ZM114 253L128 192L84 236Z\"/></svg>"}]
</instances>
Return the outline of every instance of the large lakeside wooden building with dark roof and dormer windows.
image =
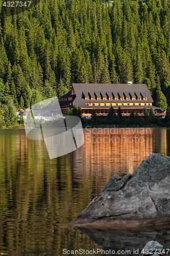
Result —
<instances>
[{"instance_id":1,"label":"large lakeside wooden building with dark roof and dormer windows","mask_svg":"<svg viewBox=\"0 0 170 256\"><path fill-rule=\"evenodd\" d=\"M164 115L163 111L153 106L153 99L146 84L112 83L73 83L71 90L59 98L62 113L73 105L80 106L83 116L91 116L92 109L100 116L106 116L110 106L117 113L120 106L124 116L129 116L133 109L139 115L152 108L155 114Z\"/></svg>"}]
</instances>

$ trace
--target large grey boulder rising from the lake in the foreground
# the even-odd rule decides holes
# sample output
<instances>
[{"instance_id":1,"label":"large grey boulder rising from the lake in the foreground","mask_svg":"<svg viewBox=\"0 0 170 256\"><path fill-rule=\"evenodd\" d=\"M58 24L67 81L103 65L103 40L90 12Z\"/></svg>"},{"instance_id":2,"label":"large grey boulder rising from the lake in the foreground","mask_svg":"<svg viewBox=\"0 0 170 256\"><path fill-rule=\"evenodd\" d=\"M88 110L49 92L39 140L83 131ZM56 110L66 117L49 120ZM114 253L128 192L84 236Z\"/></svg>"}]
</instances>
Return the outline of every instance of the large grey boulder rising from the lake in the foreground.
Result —
<instances>
[{"instance_id":1,"label":"large grey boulder rising from the lake in the foreground","mask_svg":"<svg viewBox=\"0 0 170 256\"><path fill-rule=\"evenodd\" d=\"M170 223L170 157L152 154L124 178L113 176L71 224L136 226Z\"/></svg>"}]
</instances>

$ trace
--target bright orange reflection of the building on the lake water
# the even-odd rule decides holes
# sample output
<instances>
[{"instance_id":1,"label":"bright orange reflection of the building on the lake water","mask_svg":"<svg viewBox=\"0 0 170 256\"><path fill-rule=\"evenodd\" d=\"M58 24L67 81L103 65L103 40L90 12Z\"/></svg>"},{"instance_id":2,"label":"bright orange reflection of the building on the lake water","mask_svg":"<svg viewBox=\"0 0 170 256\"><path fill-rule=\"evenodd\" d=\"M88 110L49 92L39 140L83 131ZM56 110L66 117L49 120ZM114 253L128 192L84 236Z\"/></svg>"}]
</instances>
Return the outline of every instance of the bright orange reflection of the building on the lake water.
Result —
<instances>
[{"instance_id":1,"label":"bright orange reflection of the building on the lake water","mask_svg":"<svg viewBox=\"0 0 170 256\"><path fill-rule=\"evenodd\" d=\"M84 130L85 142L73 154L75 178L82 179L85 171L122 177L133 173L153 153L152 133L150 128Z\"/></svg>"}]
</instances>

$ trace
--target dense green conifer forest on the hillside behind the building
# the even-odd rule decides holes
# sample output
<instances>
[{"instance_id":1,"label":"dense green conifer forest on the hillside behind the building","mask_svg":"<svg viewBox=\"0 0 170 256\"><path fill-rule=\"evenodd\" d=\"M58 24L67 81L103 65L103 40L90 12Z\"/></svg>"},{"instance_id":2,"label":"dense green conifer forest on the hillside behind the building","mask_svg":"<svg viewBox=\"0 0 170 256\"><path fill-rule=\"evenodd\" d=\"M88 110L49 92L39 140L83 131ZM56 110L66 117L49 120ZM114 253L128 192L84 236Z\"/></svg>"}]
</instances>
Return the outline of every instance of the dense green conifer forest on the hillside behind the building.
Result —
<instances>
[{"instance_id":1,"label":"dense green conifer forest on the hillside behind the building","mask_svg":"<svg viewBox=\"0 0 170 256\"><path fill-rule=\"evenodd\" d=\"M147 83L166 109L169 22L170 0L45 0L18 15L1 10L1 109L61 96L72 82L127 81Z\"/></svg>"}]
</instances>

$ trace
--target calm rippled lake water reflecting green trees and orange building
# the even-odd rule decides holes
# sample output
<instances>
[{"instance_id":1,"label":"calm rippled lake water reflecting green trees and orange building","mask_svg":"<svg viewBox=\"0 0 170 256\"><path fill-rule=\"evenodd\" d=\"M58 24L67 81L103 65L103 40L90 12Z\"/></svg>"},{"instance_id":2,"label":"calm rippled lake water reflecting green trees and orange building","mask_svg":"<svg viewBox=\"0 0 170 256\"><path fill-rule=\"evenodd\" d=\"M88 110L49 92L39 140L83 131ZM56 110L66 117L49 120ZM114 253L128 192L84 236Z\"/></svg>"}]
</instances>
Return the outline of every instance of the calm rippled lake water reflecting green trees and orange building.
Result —
<instances>
[{"instance_id":1,"label":"calm rippled lake water reflecting green trees and orange building","mask_svg":"<svg viewBox=\"0 0 170 256\"><path fill-rule=\"evenodd\" d=\"M170 240L161 228L103 233L69 224L113 175L133 173L152 153L170 156L170 129L89 129L84 137L77 151L50 160L43 141L29 140L24 130L0 130L1 255L64 255L64 248L137 248L145 240Z\"/></svg>"}]
</instances>

